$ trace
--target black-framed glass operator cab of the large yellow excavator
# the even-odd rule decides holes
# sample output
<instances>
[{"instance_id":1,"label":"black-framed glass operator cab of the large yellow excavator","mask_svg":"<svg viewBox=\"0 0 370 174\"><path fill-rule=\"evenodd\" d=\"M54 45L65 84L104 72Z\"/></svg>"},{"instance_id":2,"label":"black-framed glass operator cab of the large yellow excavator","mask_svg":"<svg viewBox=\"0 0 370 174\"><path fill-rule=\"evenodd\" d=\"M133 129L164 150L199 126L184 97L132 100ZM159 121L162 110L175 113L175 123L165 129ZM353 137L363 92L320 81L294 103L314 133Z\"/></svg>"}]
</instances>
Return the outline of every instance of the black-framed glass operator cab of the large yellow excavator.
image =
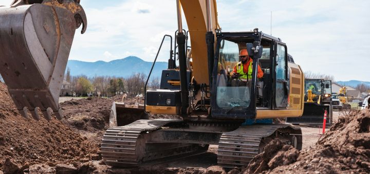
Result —
<instances>
[{"instance_id":1,"label":"black-framed glass operator cab of the large yellow excavator","mask_svg":"<svg viewBox=\"0 0 370 174\"><path fill-rule=\"evenodd\" d=\"M230 36L228 36L229 34ZM279 43L279 38L273 38L264 33L261 33L262 37L257 39L254 37L254 33L229 34L223 33L217 41L216 58L218 58L218 63L215 63L217 74L214 75L216 77L214 79L216 86L216 90L214 90L216 104L214 106L224 108L227 112L247 110L250 114L255 110L286 108L289 90L286 46ZM248 48L251 45L253 47L255 42L262 46L258 50L261 52L258 56L260 58L253 57L253 50ZM236 64L241 61L238 55L242 49L248 50L253 63L258 63L264 73L262 78L257 78L256 72L254 72L256 69L253 68L253 76L249 80L256 80L251 88L248 85L233 86L231 84L234 79L231 74ZM274 83L272 78L278 80ZM212 115L214 116L214 114Z\"/></svg>"}]
</instances>

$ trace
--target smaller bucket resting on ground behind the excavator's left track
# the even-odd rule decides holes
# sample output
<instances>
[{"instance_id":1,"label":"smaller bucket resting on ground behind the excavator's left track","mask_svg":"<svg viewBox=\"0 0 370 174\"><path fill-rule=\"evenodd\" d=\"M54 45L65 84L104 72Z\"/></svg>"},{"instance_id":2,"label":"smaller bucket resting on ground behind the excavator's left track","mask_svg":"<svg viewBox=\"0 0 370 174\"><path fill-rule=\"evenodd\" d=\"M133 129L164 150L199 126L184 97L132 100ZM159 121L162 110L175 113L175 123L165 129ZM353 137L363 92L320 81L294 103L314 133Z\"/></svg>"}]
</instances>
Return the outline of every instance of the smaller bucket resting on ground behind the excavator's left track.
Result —
<instances>
[{"instance_id":1,"label":"smaller bucket resting on ground behind the excavator's left track","mask_svg":"<svg viewBox=\"0 0 370 174\"><path fill-rule=\"evenodd\" d=\"M148 115L144 112L144 105L113 102L109 116L109 127L124 126L140 119L148 119Z\"/></svg>"}]
</instances>

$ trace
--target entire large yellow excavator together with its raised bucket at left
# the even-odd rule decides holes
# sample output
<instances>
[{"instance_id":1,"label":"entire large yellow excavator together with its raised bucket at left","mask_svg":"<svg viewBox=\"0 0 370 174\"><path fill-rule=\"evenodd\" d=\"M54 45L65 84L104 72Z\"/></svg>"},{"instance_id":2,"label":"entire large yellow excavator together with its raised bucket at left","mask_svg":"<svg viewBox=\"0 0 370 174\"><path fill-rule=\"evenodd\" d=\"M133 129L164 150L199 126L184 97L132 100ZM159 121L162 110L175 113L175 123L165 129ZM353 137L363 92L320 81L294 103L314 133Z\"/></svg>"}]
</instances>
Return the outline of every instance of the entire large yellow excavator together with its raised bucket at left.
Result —
<instances>
[{"instance_id":1,"label":"entire large yellow excavator together with its raised bucket at left","mask_svg":"<svg viewBox=\"0 0 370 174\"><path fill-rule=\"evenodd\" d=\"M177 0L176 9L176 45L170 49L160 89L147 90L144 95L143 112L182 119L141 119L126 124L120 120L124 117L113 115L110 121L116 126L106 130L101 143L104 163L140 166L217 144L218 164L233 168L248 165L275 138L301 149L300 128L272 123L273 118L303 113L304 75L288 56L286 44L257 28L221 32L214 0ZM182 28L181 9L189 31ZM10 8L0 8L0 21L0 64L4 67L0 73L18 110L25 117L29 110L39 119L40 108L51 119L51 108L61 119L57 94L73 34L81 24L83 33L87 24L79 1L16 1ZM172 43L170 35L162 43L168 37ZM253 58L251 85L233 86L231 71L242 49ZM264 72L260 79L258 66Z\"/></svg>"}]
</instances>

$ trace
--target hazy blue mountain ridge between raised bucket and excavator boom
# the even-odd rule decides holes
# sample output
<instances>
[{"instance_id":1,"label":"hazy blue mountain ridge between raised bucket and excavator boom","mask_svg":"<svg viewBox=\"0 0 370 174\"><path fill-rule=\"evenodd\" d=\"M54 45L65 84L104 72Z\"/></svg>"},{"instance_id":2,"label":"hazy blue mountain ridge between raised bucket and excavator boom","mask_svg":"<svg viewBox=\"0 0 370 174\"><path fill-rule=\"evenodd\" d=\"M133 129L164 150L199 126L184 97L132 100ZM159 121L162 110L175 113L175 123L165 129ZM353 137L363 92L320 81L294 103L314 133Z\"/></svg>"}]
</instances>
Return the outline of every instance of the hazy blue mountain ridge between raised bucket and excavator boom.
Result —
<instances>
[{"instance_id":1,"label":"hazy blue mountain ridge between raised bucket and excavator boom","mask_svg":"<svg viewBox=\"0 0 370 174\"><path fill-rule=\"evenodd\" d=\"M144 61L139 57L130 56L109 62L101 60L96 62L68 60L67 68L70 69L70 75L72 76L83 74L87 77L128 77L133 73L144 73L148 75L152 68L152 64L153 62ZM167 62L156 62L151 77L160 77L162 70L167 69L167 67Z\"/></svg>"}]
</instances>

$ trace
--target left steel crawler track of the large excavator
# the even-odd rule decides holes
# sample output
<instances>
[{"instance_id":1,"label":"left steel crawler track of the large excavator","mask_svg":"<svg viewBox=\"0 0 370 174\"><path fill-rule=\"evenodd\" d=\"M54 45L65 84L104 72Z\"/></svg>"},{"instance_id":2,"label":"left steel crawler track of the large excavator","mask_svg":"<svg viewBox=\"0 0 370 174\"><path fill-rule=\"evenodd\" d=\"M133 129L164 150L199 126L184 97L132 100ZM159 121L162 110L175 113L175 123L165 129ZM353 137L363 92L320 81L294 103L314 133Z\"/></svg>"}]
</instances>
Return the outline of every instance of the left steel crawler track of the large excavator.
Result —
<instances>
[{"instance_id":1,"label":"left steel crawler track of the large excavator","mask_svg":"<svg viewBox=\"0 0 370 174\"><path fill-rule=\"evenodd\" d=\"M101 144L104 163L111 166L138 167L147 161L197 151L197 144L146 144L150 133L168 123L179 121L181 120L137 120L125 126L108 128Z\"/></svg>"}]
</instances>

